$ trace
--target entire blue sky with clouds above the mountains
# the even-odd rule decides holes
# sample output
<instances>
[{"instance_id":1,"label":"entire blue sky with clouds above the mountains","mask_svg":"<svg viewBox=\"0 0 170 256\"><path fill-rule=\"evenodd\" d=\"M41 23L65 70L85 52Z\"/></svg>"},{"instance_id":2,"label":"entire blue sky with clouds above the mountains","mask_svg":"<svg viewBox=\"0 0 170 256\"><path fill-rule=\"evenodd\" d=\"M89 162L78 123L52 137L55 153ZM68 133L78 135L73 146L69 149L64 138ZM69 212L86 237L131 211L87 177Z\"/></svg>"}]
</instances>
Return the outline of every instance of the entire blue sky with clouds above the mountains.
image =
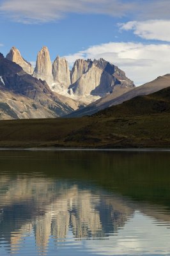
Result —
<instances>
[{"instance_id":1,"label":"entire blue sky with clouds above the mountains","mask_svg":"<svg viewBox=\"0 0 170 256\"><path fill-rule=\"evenodd\" d=\"M0 0L0 52L104 58L136 85L170 73L170 0Z\"/></svg>"}]
</instances>

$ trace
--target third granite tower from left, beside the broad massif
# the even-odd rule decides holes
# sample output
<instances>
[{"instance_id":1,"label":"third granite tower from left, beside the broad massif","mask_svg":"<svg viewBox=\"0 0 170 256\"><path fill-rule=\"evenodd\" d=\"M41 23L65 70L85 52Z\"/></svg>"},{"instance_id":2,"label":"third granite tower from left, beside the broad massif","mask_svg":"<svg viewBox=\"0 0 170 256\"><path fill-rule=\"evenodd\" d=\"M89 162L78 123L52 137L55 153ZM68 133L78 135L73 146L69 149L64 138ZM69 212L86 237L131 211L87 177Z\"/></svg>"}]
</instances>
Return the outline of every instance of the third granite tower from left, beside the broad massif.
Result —
<instances>
[{"instance_id":1,"label":"third granite tower from left, beside the broad massif","mask_svg":"<svg viewBox=\"0 0 170 256\"><path fill-rule=\"evenodd\" d=\"M68 87L71 84L70 69L65 58L60 58L58 56L56 60L54 60L52 63L52 76L54 83L50 86L51 90L54 92L68 90Z\"/></svg>"}]
</instances>

